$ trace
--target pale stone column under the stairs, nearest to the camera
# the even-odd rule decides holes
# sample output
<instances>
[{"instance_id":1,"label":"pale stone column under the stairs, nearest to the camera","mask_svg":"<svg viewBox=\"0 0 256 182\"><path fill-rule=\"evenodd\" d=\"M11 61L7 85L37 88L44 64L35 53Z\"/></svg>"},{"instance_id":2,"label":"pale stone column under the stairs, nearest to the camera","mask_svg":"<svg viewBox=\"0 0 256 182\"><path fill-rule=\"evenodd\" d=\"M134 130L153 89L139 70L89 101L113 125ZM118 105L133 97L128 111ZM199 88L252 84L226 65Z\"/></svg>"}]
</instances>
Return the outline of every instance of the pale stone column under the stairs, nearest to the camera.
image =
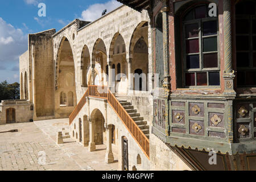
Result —
<instances>
[{"instance_id":1,"label":"pale stone column under the stairs, nearest to the camera","mask_svg":"<svg viewBox=\"0 0 256 182\"><path fill-rule=\"evenodd\" d=\"M112 152L112 125L108 125L106 127L106 135L107 135L107 148L106 148L106 163L113 163L114 162L114 155Z\"/></svg>"}]
</instances>

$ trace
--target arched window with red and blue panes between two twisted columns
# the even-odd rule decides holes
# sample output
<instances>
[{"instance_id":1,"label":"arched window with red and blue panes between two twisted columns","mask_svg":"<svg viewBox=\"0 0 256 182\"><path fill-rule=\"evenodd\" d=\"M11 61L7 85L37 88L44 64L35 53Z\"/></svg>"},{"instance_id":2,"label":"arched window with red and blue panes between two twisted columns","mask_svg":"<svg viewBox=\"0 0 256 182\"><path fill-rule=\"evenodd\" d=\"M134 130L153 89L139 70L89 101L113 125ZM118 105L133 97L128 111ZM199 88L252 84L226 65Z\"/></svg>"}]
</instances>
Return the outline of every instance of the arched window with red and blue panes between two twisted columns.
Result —
<instances>
[{"instance_id":1,"label":"arched window with red and blue panes between two twisted columns","mask_svg":"<svg viewBox=\"0 0 256 182\"><path fill-rule=\"evenodd\" d=\"M185 88L220 86L218 17L210 17L208 3L204 3L193 6L181 15L181 22L182 61L177 61L177 64L183 64L177 67L182 68L183 83L179 85ZM180 73L177 71L177 74Z\"/></svg>"}]
</instances>

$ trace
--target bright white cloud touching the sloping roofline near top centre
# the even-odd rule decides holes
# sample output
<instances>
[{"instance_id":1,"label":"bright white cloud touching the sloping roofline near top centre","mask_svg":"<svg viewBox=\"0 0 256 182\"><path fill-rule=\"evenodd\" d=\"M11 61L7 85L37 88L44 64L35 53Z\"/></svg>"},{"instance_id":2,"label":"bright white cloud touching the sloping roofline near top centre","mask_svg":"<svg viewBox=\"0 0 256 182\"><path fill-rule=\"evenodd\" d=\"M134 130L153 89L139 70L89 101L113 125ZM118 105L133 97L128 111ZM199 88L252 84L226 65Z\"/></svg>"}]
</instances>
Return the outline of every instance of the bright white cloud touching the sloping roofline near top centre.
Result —
<instances>
[{"instance_id":1,"label":"bright white cloud touching the sloping roofline near top centre","mask_svg":"<svg viewBox=\"0 0 256 182\"><path fill-rule=\"evenodd\" d=\"M81 18L82 20L92 22L101 17L102 11L107 10L107 13L121 6L122 4L111 0L106 3L97 3L94 5L90 5L88 9L82 11Z\"/></svg>"}]
</instances>

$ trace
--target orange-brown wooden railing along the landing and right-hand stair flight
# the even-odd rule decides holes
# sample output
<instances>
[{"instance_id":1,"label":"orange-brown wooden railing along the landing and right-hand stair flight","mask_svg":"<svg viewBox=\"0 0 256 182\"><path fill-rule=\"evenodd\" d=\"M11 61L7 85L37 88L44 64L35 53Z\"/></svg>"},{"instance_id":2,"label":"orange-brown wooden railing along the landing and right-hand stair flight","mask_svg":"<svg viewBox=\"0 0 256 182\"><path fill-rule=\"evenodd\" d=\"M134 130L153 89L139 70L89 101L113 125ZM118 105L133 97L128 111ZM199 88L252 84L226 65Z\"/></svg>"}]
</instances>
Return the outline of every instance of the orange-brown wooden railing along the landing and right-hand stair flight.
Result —
<instances>
[{"instance_id":1,"label":"orange-brown wooden railing along the landing and right-hand stair flight","mask_svg":"<svg viewBox=\"0 0 256 182\"><path fill-rule=\"evenodd\" d=\"M110 90L104 86L92 85L89 86L89 96L108 100L109 105L112 106L115 113L117 113L118 117L125 124L127 130L142 148L144 154L147 156L147 158L149 158L149 139L146 137L146 135L144 135L141 129L139 129L138 125L134 122L134 120L130 117L125 108L123 108Z\"/></svg>"}]
</instances>

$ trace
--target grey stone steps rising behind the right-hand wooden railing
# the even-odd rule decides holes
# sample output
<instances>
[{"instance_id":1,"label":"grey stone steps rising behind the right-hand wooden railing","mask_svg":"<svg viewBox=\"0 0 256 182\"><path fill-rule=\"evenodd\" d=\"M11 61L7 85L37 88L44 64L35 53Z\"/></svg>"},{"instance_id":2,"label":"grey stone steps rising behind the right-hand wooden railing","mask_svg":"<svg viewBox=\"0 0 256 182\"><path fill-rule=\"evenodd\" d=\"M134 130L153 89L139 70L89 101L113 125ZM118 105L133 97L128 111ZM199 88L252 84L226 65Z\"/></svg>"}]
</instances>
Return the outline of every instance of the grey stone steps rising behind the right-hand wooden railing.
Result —
<instances>
[{"instance_id":1,"label":"grey stone steps rising behind the right-hand wooden railing","mask_svg":"<svg viewBox=\"0 0 256 182\"><path fill-rule=\"evenodd\" d=\"M134 106L131 105L130 102L127 102L125 100L117 100L120 102L120 104L123 106L123 108L127 111L127 113L130 115L130 117L133 119L133 121L137 124L139 129L146 135L146 137L149 139L150 137L150 127L147 125L147 122L144 121L144 118L141 117L141 114L137 113L137 110L134 109Z\"/></svg>"}]
</instances>

